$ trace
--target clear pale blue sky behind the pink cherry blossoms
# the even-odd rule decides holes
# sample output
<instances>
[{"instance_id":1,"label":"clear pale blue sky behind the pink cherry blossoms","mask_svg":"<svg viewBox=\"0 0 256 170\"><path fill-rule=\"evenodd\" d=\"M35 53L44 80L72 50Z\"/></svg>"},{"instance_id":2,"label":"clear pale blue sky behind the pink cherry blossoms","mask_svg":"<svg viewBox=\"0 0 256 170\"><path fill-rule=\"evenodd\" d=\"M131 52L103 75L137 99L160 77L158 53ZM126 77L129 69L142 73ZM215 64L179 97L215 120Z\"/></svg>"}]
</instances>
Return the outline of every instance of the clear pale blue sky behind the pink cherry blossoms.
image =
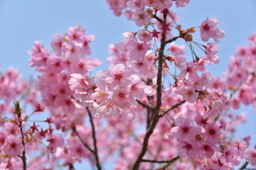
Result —
<instances>
[{"instance_id":1,"label":"clear pale blue sky behind the pink cherry blossoms","mask_svg":"<svg viewBox=\"0 0 256 170\"><path fill-rule=\"evenodd\" d=\"M176 8L175 8L176 9ZM228 68L230 56L238 45L247 45L247 37L256 31L255 0L191 0L186 8L176 10L183 28L199 26L207 17L218 18L219 28L225 30L220 40L220 64L210 67L213 75L221 75ZM108 45L122 40L122 33L137 30L132 21L115 17L105 0L0 0L0 71L16 67L28 78L35 74L28 64L28 50L35 40L50 48L53 34L65 33L75 25L82 25L88 34L95 35L91 43L92 55L107 67ZM198 34L199 36L199 34ZM256 66L255 66L256 67ZM245 108L247 123L238 129L238 136L252 135L256 144L256 118L252 108Z\"/></svg>"}]
</instances>

